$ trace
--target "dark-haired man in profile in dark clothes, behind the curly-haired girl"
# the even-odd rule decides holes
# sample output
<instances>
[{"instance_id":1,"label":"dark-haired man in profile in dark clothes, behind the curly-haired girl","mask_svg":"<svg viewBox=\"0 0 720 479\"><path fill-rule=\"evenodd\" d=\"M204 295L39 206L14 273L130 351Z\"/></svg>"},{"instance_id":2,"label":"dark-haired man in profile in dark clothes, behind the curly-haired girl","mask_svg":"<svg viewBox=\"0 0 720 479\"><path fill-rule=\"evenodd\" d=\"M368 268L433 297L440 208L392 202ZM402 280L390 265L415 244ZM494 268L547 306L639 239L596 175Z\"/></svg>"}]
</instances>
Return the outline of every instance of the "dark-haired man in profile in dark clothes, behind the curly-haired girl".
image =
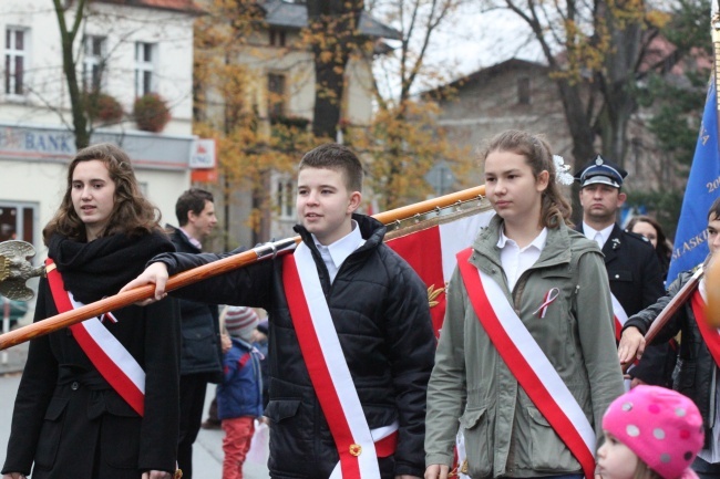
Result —
<instances>
[{"instance_id":1,"label":"dark-haired man in profile in dark clothes, behind the curly-haired girl","mask_svg":"<svg viewBox=\"0 0 720 479\"><path fill-rule=\"evenodd\" d=\"M175 204L179 228L167 225L175 249L197 254L215 225L213 195L191 188ZM177 462L184 479L193 479L193 444L203 420L205 393L208 383L223 378L223 353L217 305L200 301L179 300L181 356L181 423L177 441Z\"/></svg>"}]
</instances>

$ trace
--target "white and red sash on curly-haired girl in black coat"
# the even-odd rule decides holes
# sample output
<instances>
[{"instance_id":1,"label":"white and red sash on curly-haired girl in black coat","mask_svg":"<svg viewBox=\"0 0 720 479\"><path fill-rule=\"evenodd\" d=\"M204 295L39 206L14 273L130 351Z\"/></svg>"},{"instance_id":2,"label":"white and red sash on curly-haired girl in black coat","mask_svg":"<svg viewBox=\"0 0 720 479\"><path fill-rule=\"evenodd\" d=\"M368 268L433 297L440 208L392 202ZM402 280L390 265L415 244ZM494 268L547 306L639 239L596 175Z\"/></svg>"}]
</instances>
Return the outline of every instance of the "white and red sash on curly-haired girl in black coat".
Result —
<instances>
[{"instance_id":1,"label":"white and red sash on curly-haired girl in black coat","mask_svg":"<svg viewBox=\"0 0 720 479\"><path fill-rule=\"evenodd\" d=\"M59 313L83 305L73 299L70 291L65 291L62 277L50 258L45 260L45 271L52 299ZM97 317L73 324L70 330L103 378L137 414L143 416L145 412L145 372L132 354Z\"/></svg>"}]
</instances>

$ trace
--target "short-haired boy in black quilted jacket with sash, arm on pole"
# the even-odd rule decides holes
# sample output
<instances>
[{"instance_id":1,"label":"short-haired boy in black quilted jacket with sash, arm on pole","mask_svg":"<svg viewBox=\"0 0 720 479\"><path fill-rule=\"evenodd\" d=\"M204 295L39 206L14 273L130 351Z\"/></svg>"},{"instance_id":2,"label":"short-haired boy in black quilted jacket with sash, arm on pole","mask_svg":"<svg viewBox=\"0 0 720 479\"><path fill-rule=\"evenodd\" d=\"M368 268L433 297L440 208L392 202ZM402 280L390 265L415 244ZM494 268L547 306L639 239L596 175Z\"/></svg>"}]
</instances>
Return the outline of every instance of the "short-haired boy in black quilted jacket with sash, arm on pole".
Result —
<instances>
[{"instance_id":1,"label":"short-haired boy in black quilted jacket with sash, arm on pole","mask_svg":"<svg viewBox=\"0 0 720 479\"><path fill-rule=\"evenodd\" d=\"M433 366L426 290L356 215L362 166L347 147L319 146L299 165L292 254L260 261L176 293L264 308L270 317L272 477L422 477L425 389ZM124 290L219 259L162 254Z\"/></svg>"}]
</instances>

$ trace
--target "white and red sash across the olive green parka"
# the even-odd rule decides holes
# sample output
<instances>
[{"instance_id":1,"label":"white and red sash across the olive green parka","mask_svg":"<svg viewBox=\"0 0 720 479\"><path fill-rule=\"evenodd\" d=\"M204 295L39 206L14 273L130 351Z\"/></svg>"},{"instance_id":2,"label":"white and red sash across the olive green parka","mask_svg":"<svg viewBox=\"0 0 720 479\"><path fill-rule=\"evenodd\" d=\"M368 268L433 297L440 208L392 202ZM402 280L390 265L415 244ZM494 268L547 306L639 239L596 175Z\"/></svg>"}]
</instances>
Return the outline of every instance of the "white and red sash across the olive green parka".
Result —
<instances>
[{"instance_id":1,"label":"white and red sash across the olive green parka","mask_svg":"<svg viewBox=\"0 0 720 479\"><path fill-rule=\"evenodd\" d=\"M590 421L500 284L469 262L471 254L471 248L457 253L457 267L483 330L535 407L580 462L585 477L593 479L595 430Z\"/></svg>"}]
</instances>

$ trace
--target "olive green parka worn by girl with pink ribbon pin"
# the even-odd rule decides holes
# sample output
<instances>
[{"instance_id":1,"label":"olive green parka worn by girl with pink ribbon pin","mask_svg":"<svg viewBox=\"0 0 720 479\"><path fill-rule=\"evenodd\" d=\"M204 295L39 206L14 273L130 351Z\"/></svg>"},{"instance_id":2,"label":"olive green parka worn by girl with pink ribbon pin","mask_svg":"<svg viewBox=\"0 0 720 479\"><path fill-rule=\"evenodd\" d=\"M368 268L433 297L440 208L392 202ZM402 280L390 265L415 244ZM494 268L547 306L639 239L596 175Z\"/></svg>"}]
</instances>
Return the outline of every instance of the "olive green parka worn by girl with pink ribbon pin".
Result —
<instances>
[{"instance_id":1,"label":"olive green parka worn by girl with pink ribbon pin","mask_svg":"<svg viewBox=\"0 0 720 479\"><path fill-rule=\"evenodd\" d=\"M501 226L495 216L469 261L501 285L599 438L605 409L624 392L603 254L564 223L548 228L539 259L510 291L497 248ZM553 288L559 295L541 319L537 310ZM455 269L428 388L428 466L452 465L459 428L474 479L582 473L493 346Z\"/></svg>"}]
</instances>

